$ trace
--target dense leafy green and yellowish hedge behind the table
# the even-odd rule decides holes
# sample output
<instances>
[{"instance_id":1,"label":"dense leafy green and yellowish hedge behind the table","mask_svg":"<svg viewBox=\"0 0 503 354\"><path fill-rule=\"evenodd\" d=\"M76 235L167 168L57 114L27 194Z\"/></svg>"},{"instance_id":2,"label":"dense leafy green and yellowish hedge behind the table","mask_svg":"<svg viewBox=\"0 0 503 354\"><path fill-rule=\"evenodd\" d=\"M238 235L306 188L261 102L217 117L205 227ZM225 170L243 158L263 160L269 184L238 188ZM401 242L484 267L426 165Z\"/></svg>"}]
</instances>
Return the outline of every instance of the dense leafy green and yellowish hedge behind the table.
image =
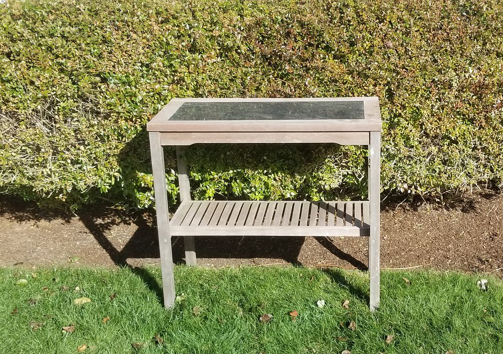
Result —
<instances>
[{"instance_id":1,"label":"dense leafy green and yellowish hedge behind the table","mask_svg":"<svg viewBox=\"0 0 503 354\"><path fill-rule=\"evenodd\" d=\"M173 97L378 96L385 193L501 186L499 3L9 0L0 193L149 206L144 127ZM365 195L365 156L327 144L187 150L196 198Z\"/></svg>"}]
</instances>

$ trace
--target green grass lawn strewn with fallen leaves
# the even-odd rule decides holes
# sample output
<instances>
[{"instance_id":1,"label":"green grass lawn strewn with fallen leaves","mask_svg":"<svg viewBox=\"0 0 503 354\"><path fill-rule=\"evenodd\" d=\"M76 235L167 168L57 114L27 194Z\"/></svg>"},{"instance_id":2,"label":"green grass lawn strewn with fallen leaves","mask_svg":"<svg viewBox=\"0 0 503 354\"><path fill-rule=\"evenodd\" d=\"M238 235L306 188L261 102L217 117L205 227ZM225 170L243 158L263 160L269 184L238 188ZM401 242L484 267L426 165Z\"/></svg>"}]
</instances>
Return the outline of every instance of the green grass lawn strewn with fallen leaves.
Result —
<instances>
[{"instance_id":1,"label":"green grass lawn strewn with fallen leaves","mask_svg":"<svg viewBox=\"0 0 503 354\"><path fill-rule=\"evenodd\" d=\"M170 311L158 300L157 268L3 269L0 278L1 353L76 353L84 343L85 353L503 352L503 283L494 278L484 293L477 276L382 272L375 313L367 307L367 274L340 270L177 267L177 295L185 300ZM92 302L74 305L80 297ZM341 306L345 299L349 310ZM269 323L259 321L265 313L273 315ZM30 321L43 324L32 330ZM75 331L63 332L70 324Z\"/></svg>"}]
</instances>

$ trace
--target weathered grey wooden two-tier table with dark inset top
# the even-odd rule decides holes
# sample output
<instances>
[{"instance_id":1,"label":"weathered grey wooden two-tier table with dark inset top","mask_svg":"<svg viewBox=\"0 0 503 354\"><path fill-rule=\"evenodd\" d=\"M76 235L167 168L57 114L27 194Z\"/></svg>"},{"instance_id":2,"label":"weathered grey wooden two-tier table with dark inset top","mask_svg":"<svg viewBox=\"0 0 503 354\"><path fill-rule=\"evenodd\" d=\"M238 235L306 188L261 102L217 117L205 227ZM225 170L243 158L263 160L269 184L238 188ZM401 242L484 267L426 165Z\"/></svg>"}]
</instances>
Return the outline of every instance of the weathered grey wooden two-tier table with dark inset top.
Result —
<instances>
[{"instance_id":1,"label":"weathered grey wooden two-tier table with dark inset top","mask_svg":"<svg viewBox=\"0 0 503 354\"><path fill-rule=\"evenodd\" d=\"M381 114L376 97L173 99L147 124L154 178L165 307L175 302L171 237L368 236L370 308L379 305ZM358 202L192 201L182 146L196 143L367 145L369 200ZM169 220L163 145L177 146L182 203Z\"/></svg>"}]
</instances>

